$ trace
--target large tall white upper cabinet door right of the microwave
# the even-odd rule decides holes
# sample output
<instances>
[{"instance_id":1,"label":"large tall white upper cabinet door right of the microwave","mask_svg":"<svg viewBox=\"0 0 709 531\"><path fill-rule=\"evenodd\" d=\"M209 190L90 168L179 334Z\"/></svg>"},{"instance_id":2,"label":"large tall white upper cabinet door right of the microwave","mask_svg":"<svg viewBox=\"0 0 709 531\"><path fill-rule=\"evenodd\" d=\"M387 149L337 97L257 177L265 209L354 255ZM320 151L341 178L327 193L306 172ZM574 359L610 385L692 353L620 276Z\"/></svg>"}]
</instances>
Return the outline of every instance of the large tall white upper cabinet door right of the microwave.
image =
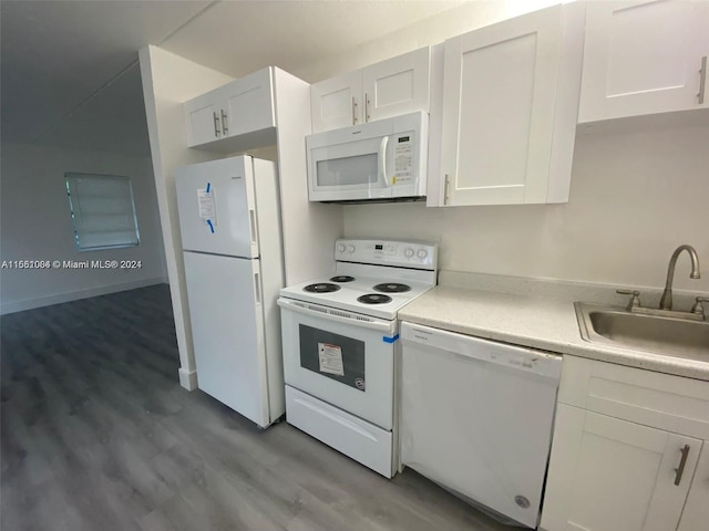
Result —
<instances>
[{"instance_id":1,"label":"large tall white upper cabinet door right of the microwave","mask_svg":"<svg viewBox=\"0 0 709 531\"><path fill-rule=\"evenodd\" d=\"M445 41L445 205L546 202L561 12L545 9Z\"/></svg>"}]
</instances>

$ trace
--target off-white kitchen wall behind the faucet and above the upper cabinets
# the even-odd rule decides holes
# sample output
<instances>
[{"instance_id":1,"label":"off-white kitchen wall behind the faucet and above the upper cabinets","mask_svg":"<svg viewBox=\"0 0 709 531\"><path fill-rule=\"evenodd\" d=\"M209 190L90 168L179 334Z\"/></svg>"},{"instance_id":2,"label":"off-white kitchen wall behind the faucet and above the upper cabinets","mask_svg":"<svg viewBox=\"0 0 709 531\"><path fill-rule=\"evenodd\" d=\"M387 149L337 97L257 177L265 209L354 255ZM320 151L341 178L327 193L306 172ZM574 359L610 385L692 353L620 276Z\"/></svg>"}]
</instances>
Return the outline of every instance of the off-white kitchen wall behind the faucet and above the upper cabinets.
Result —
<instances>
[{"instance_id":1,"label":"off-white kitchen wall behind the faucet and above the upper cabinets","mask_svg":"<svg viewBox=\"0 0 709 531\"><path fill-rule=\"evenodd\" d=\"M521 14L554 1L469 2L295 74L316 82ZM709 129L648 128L577 136L571 200L555 206L348 206L347 237L440 241L443 269L659 287L680 243L695 246L701 280L680 259L676 285L709 291Z\"/></svg>"}]
</instances>

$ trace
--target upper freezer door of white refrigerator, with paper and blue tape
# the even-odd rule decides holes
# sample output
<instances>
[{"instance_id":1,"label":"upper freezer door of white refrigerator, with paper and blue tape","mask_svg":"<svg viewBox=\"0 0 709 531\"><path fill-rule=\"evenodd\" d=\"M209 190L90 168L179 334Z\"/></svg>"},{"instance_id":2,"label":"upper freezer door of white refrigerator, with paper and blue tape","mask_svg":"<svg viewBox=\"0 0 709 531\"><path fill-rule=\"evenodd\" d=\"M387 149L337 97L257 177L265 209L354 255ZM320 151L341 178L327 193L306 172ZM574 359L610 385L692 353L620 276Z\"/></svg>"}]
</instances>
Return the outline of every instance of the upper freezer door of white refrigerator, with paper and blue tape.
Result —
<instances>
[{"instance_id":1,"label":"upper freezer door of white refrigerator, with paper and blue tape","mask_svg":"<svg viewBox=\"0 0 709 531\"><path fill-rule=\"evenodd\" d=\"M177 208L185 251L258 258L251 157L177 168Z\"/></svg>"}]
</instances>

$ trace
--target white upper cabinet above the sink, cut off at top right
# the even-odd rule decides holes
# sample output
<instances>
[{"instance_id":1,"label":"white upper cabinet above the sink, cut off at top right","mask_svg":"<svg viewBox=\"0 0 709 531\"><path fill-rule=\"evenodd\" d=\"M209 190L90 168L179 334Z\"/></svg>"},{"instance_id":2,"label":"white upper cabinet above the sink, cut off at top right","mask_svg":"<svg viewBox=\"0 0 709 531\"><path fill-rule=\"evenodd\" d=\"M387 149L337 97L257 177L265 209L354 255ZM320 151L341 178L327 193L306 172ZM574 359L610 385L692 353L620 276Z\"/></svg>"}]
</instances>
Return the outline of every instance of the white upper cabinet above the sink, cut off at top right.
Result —
<instances>
[{"instance_id":1,"label":"white upper cabinet above the sink, cut off at top right","mask_svg":"<svg viewBox=\"0 0 709 531\"><path fill-rule=\"evenodd\" d=\"M709 106L709 2L589 2L578 121Z\"/></svg>"}]
</instances>

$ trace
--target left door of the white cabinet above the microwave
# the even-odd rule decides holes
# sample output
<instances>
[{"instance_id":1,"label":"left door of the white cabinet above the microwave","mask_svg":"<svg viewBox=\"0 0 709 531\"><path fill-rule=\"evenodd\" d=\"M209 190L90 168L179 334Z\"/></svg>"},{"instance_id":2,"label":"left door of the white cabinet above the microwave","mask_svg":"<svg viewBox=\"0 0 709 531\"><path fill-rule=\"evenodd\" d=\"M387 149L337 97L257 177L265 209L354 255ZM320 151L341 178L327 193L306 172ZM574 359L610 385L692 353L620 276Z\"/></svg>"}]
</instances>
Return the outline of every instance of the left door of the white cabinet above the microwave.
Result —
<instances>
[{"instance_id":1,"label":"left door of the white cabinet above the microwave","mask_svg":"<svg viewBox=\"0 0 709 531\"><path fill-rule=\"evenodd\" d=\"M362 71L321 81L310 86L312 132L362 123Z\"/></svg>"}]
</instances>

